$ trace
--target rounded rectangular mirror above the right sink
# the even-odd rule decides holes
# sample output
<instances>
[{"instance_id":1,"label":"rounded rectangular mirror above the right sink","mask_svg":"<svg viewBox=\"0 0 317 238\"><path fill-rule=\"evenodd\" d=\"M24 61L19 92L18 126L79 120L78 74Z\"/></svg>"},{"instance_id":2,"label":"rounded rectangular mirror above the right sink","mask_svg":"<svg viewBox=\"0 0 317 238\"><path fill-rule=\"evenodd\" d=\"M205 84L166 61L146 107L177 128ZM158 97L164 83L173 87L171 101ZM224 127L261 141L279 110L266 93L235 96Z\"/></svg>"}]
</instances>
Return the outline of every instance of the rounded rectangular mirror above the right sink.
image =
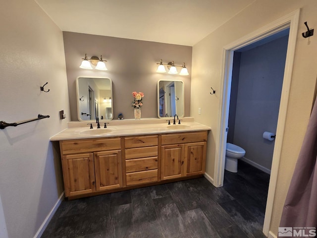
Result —
<instances>
[{"instance_id":1,"label":"rounded rectangular mirror above the right sink","mask_svg":"<svg viewBox=\"0 0 317 238\"><path fill-rule=\"evenodd\" d=\"M158 116L184 117L184 82L172 80L158 81Z\"/></svg>"}]
</instances>

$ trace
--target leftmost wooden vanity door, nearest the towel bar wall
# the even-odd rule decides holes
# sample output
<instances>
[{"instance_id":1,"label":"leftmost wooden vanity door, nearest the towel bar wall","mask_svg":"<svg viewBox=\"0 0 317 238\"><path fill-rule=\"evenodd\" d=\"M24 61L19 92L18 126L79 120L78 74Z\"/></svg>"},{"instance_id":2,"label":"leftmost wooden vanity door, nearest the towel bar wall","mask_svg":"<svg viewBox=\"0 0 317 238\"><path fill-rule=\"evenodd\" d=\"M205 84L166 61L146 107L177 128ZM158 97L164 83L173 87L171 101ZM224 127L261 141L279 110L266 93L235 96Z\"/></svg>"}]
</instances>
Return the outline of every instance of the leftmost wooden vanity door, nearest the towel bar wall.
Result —
<instances>
[{"instance_id":1,"label":"leftmost wooden vanity door, nearest the towel bar wall","mask_svg":"<svg viewBox=\"0 0 317 238\"><path fill-rule=\"evenodd\" d=\"M75 196L95 191L94 155L63 156L65 196Z\"/></svg>"}]
</instances>

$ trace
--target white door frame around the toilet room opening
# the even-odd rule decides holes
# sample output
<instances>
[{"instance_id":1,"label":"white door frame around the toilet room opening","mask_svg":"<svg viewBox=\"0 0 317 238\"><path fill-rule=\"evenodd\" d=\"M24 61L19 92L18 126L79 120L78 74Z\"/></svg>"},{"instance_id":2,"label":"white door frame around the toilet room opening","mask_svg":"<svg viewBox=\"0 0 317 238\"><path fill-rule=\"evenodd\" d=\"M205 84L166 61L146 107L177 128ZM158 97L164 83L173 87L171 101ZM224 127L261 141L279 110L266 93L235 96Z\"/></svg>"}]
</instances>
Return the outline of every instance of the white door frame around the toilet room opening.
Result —
<instances>
[{"instance_id":1,"label":"white door frame around the toilet room opening","mask_svg":"<svg viewBox=\"0 0 317 238\"><path fill-rule=\"evenodd\" d=\"M289 91L291 86L293 62L295 56L295 46L298 34L300 9L293 11L270 24L226 45L222 49L222 63L220 75L220 90L219 90L219 108L221 109L218 117L217 125L217 141L215 145L215 164L214 164L214 178L213 185L222 186L224 177L224 162L226 152L226 128L229 118L229 103L231 92L231 77L232 77L232 63L234 51L262 40L277 32L289 28L289 38L287 45L287 54L285 60L285 69L283 77L283 86L281 92L281 101L278 113L275 145L272 158L271 175L268 187L266 210L264 217L263 233L268 236L271 216L273 211L273 202L275 196L275 188L277 183L279 161L281 156L281 149L284 137L285 121L287 115L287 106L289 101ZM218 158L218 159L217 159Z\"/></svg>"}]
</instances>

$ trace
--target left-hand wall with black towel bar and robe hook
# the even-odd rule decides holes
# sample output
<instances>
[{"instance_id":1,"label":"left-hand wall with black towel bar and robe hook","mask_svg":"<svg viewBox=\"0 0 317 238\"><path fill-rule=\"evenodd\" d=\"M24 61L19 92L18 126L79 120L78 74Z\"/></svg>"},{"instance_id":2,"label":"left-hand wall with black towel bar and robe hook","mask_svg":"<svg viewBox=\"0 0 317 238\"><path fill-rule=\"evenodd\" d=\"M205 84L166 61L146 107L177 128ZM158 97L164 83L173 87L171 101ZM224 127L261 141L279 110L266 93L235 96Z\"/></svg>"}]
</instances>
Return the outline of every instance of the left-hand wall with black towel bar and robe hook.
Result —
<instances>
[{"instance_id":1,"label":"left-hand wall with black towel bar and robe hook","mask_svg":"<svg viewBox=\"0 0 317 238\"><path fill-rule=\"evenodd\" d=\"M0 32L0 120L50 115L0 130L0 197L7 234L31 238L63 191L58 146L49 140L70 118L63 38L34 0L1 1ZM40 91L46 82L48 93ZM59 119L60 110L67 119Z\"/></svg>"}]
</instances>

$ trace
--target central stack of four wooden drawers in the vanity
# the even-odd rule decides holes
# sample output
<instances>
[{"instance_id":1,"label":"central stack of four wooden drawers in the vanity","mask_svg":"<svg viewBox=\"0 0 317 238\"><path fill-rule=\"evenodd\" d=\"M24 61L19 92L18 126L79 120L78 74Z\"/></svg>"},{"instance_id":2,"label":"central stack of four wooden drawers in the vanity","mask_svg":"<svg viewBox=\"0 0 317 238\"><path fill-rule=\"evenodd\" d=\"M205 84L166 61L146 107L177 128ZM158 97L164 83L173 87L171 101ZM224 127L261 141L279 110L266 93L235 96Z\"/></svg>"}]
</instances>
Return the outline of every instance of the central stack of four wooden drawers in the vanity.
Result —
<instances>
[{"instance_id":1,"label":"central stack of four wooden drawers in the vanity","mask_svg":"<svg viewBox=\"0 0 317 238\"><path fill-rule=\"evenodd\" d=\"M158 181L159 136L124 138L125 185Z\"/></svg>"}]
</instances>

